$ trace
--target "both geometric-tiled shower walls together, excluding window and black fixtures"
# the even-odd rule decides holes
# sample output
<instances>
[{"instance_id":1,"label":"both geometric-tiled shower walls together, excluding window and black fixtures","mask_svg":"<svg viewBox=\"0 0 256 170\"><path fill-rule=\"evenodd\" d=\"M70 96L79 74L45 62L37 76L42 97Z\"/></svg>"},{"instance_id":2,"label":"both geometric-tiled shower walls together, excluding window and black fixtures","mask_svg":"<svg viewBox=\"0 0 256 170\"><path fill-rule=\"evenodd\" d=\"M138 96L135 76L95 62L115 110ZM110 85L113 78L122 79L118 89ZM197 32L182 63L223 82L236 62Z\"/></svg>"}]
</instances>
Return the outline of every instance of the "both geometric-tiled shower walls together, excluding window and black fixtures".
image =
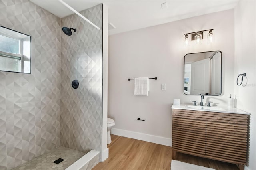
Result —
<instances>
[{"instance_id":1,"label":"both geometric-tiled shower walls together, excluding window and black fixtures","mask_svg":"<svg viewBox=\"0 0 256 170\"><path fill-rule=\"evenodd\" d=\"M102 4L80 13L102 28ZM0 0L0 25L32 36L31 74L0 71L0 169L58 146L102 152L102 30L28 0Z\"/></svg>"}]
</instances>

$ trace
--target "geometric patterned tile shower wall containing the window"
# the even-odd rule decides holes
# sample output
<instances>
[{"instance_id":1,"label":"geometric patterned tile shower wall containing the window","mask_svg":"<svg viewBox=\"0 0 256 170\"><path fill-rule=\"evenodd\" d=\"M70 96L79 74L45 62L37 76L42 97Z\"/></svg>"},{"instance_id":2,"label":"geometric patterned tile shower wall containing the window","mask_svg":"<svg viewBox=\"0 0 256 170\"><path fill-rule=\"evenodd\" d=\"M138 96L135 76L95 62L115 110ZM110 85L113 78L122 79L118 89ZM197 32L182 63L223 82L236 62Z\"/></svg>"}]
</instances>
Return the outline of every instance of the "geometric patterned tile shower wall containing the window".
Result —
<instances>
[{"instance_id":1,"label":"geometric patterned tile shower wall containing the window","mask_svg":"<svg viewBox=\"0 0 256 170\"><path fill-rule=\"evenodd\" d=\"M31 74L0 71L0 169L60 146L60 18L28 0L0 0L0 25L32 36Z\"/></svg>"}]
</instances>

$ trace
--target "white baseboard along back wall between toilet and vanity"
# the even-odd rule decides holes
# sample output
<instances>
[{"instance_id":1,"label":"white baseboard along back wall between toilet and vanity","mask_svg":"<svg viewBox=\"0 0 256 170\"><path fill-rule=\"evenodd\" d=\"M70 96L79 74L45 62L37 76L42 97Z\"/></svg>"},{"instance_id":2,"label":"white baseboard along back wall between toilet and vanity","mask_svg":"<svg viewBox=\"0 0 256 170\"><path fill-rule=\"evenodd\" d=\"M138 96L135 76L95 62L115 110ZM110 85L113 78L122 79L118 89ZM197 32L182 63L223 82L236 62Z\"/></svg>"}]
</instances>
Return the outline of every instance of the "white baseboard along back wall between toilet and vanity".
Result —
<instances>
[{"instance_id":1,"label":"white baseboard along back wall between toilet and vanity","mask_svg":"<svg viewBox=\"0 0 256 170\"><path fill-rule=\"evenodd\" d=\"M129 131L129 130L122 130L122 129L118 129L118 128L112 128L110 131L111 131L111 134L115 134L118 136L124 136L127 138L133 138L133 139L143 140L146 142L162 144L165 146L172 146L171 138L164 138L161 136L154 136L151 134L133 132L133 131Z\"/></svg>"}]
</instances>

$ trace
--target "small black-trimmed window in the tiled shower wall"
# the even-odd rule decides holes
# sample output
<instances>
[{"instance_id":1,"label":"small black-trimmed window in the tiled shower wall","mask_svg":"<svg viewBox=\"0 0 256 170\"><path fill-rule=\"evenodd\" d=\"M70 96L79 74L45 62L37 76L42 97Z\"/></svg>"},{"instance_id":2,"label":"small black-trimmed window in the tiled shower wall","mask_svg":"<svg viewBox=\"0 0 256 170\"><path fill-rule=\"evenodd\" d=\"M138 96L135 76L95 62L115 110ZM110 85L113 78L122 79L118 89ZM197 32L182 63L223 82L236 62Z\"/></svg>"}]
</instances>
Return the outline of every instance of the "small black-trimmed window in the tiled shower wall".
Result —
<instances>
[{"instance_id":1,"label":"small black-trimmed window in the tiled shower wall","mask_svg":"<svg viewBox=\"0 0 256 170\"><path fill-rule=\"evenodd\" d=\"M0 71L31 73L31 36L0 26Z\"/></svg>"}]
</instances>

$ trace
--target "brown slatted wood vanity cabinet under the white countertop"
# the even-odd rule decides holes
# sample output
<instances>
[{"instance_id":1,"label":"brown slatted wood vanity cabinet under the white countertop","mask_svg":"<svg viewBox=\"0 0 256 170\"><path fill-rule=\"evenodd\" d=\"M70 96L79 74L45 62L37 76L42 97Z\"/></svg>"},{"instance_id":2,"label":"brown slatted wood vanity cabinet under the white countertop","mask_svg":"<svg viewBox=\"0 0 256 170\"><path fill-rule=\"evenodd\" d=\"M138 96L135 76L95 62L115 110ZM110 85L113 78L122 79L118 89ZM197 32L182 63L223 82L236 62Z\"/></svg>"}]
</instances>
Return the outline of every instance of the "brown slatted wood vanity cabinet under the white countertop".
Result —
<instances>
[{"instance_id":1,"label":"brown slatted wood vanity cabinet under the white countertop","mask_svg":"<svg viewBox=\"0 0 256 170\"><path fill-rule=\"evenodd\" d=\"M238 164L247 161L249 115L172 109L172 150Z\"/></svg>"}]
</instances>

